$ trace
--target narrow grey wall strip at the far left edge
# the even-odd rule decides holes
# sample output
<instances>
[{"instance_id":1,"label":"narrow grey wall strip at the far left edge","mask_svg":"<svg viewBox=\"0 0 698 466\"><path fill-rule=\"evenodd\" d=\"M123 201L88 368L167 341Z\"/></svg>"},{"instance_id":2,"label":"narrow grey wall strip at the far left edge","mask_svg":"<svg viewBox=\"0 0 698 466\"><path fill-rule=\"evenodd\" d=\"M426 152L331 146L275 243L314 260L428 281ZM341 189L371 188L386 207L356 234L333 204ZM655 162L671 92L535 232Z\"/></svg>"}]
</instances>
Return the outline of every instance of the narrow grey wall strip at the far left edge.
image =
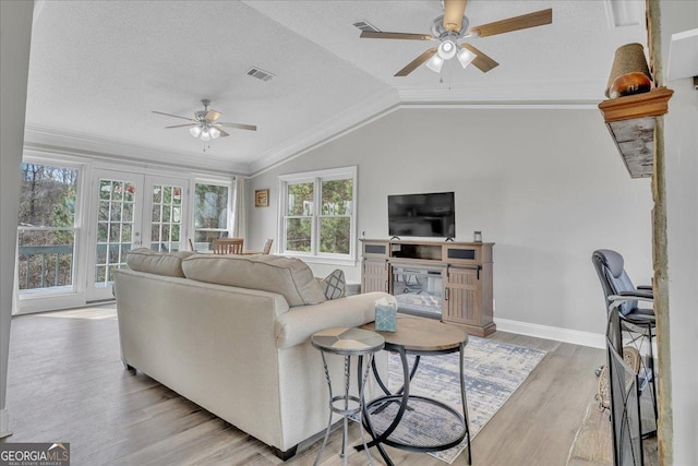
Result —
<instances>
[{"instance_id":1,"label":"narrow grey wall strip at the far left edge","mask_svg":"<svg viewBox=\"0 0 698 466\"><path fill-rule=\"evenodd\" d=\"M5 408L20 166L34 2L0 2L0 437L10 434Z\"/></svg>"}]
</instances>

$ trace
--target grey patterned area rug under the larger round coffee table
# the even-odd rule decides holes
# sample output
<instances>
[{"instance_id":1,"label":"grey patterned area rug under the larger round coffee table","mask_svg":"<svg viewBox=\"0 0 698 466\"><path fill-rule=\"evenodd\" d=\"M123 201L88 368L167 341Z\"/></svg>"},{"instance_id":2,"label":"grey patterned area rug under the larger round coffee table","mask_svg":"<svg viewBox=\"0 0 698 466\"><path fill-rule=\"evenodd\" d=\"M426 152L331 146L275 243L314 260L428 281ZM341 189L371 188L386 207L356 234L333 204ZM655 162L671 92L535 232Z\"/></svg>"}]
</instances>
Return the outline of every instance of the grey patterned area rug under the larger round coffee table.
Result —
<instances>
[{"instance_id":1,"label":"grey patterned area rug under the larger round coffee table","mask_svg":"<svg viewBox=\"0 0 698 466\"><path fill-rule=\"evenodd\" d=\"M509 345L492 339L470 336L464 353L466 396L468 399L468 417L470 421L471 440L496 414L504 403L545 356L545 351L524 346ZM412 358L408 358L410 367ZM460 403L460 385L458 383L458 353L450 355L422 357L419 370L410 384L411 395L422 395L436 398L462 413ZM390 391L402 384L402 368L397 355L390 354L388 359L388 387ZM397 410L394 403L385 408ZM434 444L431 434L414 434L413 432L435 432L441 439L448 439L459 429L459 425L450 422L441 416L442 410L431 404L419 403L414 409L406 415L398 429L390 438L409 437L410 442L420 445ZM381 416L380 418L390 418ZM378 420L380 422L380 420ZM386 426L376 423L383 431ZM467 441L442 452L430 455L452 464L466 449ZM467 453L466 453L467 454Z\"/></svg>"}]
</instances>

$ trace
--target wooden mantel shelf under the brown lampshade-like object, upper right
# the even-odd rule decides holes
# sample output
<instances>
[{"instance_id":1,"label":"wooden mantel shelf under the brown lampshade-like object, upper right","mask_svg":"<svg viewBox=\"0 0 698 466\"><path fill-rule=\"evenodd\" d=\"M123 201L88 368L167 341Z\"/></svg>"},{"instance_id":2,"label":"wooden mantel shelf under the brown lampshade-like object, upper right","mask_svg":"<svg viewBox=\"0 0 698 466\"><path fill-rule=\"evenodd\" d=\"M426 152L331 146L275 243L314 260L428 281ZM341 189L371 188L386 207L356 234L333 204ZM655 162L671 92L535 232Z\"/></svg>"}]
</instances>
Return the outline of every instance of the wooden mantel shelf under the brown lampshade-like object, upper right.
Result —
<instances>
[{"instance_id":1,"label":"wooden mantel shelf under the brown lampshade-like object, upper right","mask_svg":"<svg viewBox=\"0 0 698 466\"><path fill-rule=\"evenodd\" d=\"M672 89L658 87L599 104L630 178L651 177L654 172L655 117L669 111L673 94Z\"/></svg>"}]
</instances>

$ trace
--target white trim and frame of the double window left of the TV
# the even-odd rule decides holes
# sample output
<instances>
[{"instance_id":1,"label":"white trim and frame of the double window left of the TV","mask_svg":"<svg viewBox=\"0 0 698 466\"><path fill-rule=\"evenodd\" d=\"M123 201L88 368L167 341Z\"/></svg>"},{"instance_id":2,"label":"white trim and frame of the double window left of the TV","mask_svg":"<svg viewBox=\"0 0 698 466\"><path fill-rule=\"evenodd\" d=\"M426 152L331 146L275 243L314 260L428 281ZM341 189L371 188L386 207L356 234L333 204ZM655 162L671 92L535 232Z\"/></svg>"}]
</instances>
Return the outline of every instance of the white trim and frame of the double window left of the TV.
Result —
<instances>
[{"instance_id":1,"label":"white trim and frame of the double window left of the TV","mask_svg":"<svg viewBox=\"0 0 698 466\"><path fill-rule=\"evenodd\" d=\"M278 237L279 252L284 255L303 259L306 262L335 265L356 265L357 262L357 166L329 168L324 170L303 171L289 175L280 175L279 180L279 202L278 202ZM349 254L322 253L320 248L320 218L322 181L340 179L351 179L351 214L349 215ZM313 213L311 218L311 251L299 252L286 249L286 211L288 201L288 184L302 182L313 182Z\"/></svg>"}]
</instances>

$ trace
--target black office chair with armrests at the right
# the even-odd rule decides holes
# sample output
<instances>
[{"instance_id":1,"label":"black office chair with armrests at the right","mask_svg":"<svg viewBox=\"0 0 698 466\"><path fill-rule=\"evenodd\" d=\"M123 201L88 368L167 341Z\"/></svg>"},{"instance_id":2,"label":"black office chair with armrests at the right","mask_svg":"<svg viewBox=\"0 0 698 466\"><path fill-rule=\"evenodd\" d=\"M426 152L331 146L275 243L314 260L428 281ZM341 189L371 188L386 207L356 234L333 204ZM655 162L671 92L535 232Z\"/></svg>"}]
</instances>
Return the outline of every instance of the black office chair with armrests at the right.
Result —
<instances>
[{"instance_id":1,"label":"black office chair with armrests at the right","mask_svg":"<svg viewBox=\"0 0 698 466\"><path fill-rule=\"evenodd\" d=\"M647 306L653 304L652 288L649 286L636 288L625 272L623 256L615 251L599 249L591 255L591 262L603 289L607 322L614 323L609 328L606 336L612 340L615 339L615 346L622 348L623 334L626 333L630 336L630 343L636 346L638 351L642 344L641 339L648 342L649 359L647 365L641 365L645 373L640 374L640 379L642 385L649 382L654 419L657 419L657 386L654 385L654 354L652 349L652 337L657 335L657 321L651 307L639 306L640 302L645 302ZM617 313L617 315L610 315L610 313ZM639 344L638 340L640 340ZM623 358L623 353L619 356ZM646 437L652 433L648 432Z\"/></svg>"}]
</instances>

